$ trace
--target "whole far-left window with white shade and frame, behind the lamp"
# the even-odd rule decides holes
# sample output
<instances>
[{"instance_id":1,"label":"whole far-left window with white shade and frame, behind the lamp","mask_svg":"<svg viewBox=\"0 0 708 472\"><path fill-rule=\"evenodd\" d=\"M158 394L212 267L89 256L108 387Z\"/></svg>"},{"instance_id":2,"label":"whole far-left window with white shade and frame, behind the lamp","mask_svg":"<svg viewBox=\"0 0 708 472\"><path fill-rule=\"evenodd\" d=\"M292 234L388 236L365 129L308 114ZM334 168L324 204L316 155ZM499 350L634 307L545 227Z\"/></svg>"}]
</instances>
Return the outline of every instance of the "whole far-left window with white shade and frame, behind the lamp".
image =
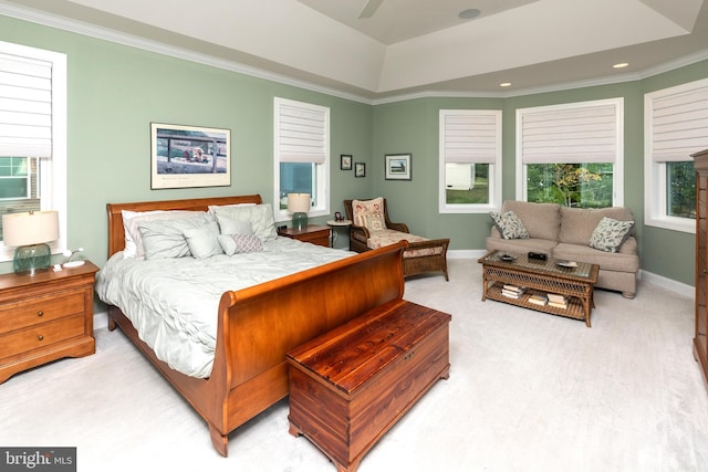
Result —
<instances>
[{"instance_id":1,"label":"whole far-left window with white shade and frame, behind the lamp","mask_svg":"<svg viewBox=\"0 0 708 472\"><path fill-rule=\"evenodd\" d=\"M56 210L66 240L66 56L0 42L0 214ZM2 228L0 225L0 234ZM13 248L0 243L0 261Z\"/></svg>"}]
</instances>

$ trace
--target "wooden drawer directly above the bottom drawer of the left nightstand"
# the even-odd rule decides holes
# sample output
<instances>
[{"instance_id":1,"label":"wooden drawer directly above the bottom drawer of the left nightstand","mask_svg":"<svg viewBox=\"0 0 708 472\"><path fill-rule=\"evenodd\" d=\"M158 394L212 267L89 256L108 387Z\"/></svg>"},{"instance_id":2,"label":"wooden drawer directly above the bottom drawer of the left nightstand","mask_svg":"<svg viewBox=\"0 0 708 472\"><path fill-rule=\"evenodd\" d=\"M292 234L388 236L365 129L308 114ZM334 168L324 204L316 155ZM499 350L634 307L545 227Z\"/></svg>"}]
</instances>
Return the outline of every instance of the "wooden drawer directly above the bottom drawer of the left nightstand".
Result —
<instances>
[{"instance_id":1,"label":"wooden drawer directly above the bottom drawer of the left nightstand","mask_svg":"<svg viewBox=\"0 0 708 472\"><path fill-rule=\"evenodd\" d=\"M0 334L64 316L83 314L84 310L83 291L0 305Z\"/></svg>"}]
</instances>

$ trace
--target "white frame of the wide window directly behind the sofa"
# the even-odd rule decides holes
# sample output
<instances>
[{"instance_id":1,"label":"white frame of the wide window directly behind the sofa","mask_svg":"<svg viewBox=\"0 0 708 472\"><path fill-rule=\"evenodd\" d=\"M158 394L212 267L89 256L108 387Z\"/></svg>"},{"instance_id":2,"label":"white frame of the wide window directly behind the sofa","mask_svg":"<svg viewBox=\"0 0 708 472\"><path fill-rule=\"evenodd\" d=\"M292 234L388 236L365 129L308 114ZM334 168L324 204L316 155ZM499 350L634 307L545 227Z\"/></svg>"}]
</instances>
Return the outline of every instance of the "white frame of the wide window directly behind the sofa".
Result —
<instances>
[{"instance_id":1,"label":"white frame of the wide window directly behind the sofa","mask_svg":"<svg viewBox=\"0 0 708 472\"><path fill-rule=\"evenodd\" d=\"M577 150L581 153L602 153L612 154L614 157L613 164L613 181L612 181L612 204L613 207L624 206L624 98L606 98L587 102L575 102L560 105L538 106L531 108L518 108L517 109L517 185L516 185L516 199L527 201L527 165L523 162L524 148L523 148L523 123L524 117L534 114L550 114L555 116L562 116L566 113L579 112L583 113L589 108L596 107L614 107L614 147L604 147L603 149L595 149L592 144L592 138L589 145L579 146ZM554 129L553 133L561 129ZM582 148L582 149L581 149ZM563 158L568 153L568 148L551 149L551 154L556 154L558 159L549 159L548 164L566 164L569 160Z\"/></svg>"}]
</instances>

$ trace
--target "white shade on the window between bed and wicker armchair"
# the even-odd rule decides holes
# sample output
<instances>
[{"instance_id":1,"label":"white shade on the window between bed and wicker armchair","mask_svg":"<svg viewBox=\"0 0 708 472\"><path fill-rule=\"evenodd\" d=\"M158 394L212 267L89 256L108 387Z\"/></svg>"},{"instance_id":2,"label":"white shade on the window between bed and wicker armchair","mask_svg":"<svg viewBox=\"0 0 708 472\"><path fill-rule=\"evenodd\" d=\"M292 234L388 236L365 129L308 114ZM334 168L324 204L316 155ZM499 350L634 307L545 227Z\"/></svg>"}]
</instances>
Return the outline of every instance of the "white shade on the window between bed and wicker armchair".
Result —
<instances>
[{"instance_id":1,"label":"white shade on the window between bed and wicker armchair","mask_svg":"<svg viewBox=\"0 0 708 472\"><path fill-rule=\"evenodd\" d=\"M284 102L284 101L283 101ZM324 164L327 108L300 107L292 102L278 107L278 155L281 162Z\"/></svg>"}]
</instances>

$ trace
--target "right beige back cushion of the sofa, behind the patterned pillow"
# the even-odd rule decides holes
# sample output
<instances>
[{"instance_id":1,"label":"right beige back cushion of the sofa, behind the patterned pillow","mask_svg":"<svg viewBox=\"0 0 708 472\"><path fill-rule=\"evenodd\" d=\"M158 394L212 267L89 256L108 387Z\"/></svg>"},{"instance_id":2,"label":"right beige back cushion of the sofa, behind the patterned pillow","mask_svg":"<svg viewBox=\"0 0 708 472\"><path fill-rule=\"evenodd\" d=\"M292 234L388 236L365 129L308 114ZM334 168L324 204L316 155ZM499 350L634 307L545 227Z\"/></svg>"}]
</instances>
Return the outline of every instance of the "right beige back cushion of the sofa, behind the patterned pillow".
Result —
<instances>
[{"instance_id":1,"label":"right beige back cushion of the sofa, behind the patterned pillow","mask_svg":"<svg viewBox=\"0 0 708 472\"><path fill-rule=\"evenodd\" d=\"M558 241L590 245L593 231L605 217L618 221L634 221L632 212L622 207L598 209L561 207L561 231Z\"/></svg>"}]
</instances>

